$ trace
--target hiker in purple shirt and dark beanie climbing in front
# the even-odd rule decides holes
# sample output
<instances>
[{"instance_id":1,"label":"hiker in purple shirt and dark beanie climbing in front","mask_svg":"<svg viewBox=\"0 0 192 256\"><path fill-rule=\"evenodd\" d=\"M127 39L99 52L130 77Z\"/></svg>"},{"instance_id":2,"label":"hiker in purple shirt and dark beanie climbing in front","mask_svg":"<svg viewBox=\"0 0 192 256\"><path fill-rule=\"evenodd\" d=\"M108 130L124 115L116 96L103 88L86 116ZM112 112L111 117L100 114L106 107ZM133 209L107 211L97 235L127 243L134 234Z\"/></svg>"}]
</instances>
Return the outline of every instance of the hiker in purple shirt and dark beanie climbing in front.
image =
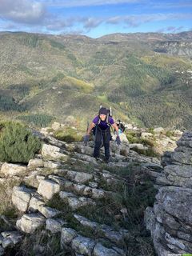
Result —
<instances>
[{"instance_id":1,"label":"hiker in purple shirt and dark beanie climbing in front","mask_svg":"<svg viewBox=\"0 0 192 256\"><path fill-rule=\"evenodd\" d=\"M106 162L110 162L110 126L114 128L117 134L116 142L118 145L121 144L121 140L118 134L118 126L114 122L114 119L109 116L109 110L105 107L101 107L98 115L93 119L89 128L87 129L86 135L84 136L84 143L90 139L90 132L93 130L94 133L94 158L98 160L100 154L100 148L104 146Z\"/></svg>"}]
</instances>

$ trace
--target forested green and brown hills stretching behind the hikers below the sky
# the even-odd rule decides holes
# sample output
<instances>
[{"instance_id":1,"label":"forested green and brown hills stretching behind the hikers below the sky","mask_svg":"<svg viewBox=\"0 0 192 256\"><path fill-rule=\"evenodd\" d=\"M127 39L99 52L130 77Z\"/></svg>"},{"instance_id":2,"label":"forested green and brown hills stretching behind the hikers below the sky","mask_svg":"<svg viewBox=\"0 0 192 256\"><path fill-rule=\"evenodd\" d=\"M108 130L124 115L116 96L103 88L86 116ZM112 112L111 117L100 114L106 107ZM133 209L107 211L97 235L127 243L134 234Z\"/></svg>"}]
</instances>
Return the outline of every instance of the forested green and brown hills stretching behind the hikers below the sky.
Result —
<instances>
[{"instance_id":1,"label":"forested green and brown hills stretching behind the hikers below the sky","mask_svg":"<svg viewBox=\"0 0 192 256\"><path fill-rule=\"evenodd\" d=\"M112 106L141 126L190 129L192 33L0 33L1 117L78 123Z\"/></svg>"}]
</instances>

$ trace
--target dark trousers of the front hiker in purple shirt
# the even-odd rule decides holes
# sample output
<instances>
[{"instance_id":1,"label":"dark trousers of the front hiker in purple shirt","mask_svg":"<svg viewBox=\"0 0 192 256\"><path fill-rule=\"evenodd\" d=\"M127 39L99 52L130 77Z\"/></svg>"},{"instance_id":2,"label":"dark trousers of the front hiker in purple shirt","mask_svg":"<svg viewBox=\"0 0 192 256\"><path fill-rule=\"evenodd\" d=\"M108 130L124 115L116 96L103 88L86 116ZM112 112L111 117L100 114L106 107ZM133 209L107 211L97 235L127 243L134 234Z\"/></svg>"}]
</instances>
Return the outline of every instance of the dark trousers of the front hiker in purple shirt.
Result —
<instances>
[{"instance_id":1,"label":"dark trousers of the front hiker in purple shirt","mask_svg":"<svg viewBox=\"0 0 192 256\"><path fill-rule=\"evenodd\" d=\"M110 126L106 130L102 130L98 125L95 126L94 130L94 158L98 158L102 144L105 148L106 159L110 158Z\"/></svg>"}]
</instances>

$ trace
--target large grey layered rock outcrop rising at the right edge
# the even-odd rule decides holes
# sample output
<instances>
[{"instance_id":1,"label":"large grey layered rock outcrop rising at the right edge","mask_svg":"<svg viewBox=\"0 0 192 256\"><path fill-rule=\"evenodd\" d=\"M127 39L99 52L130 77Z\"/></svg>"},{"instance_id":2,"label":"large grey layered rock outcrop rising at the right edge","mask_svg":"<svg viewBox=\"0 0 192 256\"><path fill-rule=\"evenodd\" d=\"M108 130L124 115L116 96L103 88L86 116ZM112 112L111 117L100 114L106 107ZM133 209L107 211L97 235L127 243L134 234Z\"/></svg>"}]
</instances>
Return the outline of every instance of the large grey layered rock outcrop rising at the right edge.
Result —
<instances>
[{"instance_id":1,"label":"large grey layered rock outcrop rising at the right edge","mask_svg":"<svg viewBox=\"0 0 192 256\"><path fill-rule=\"evenodd\" d=\"M156 202L145 214L159 256L192 253L192 133L182 134L177 145L162 159L165 167L156 179Z\"/></svg>"}]
</instances>

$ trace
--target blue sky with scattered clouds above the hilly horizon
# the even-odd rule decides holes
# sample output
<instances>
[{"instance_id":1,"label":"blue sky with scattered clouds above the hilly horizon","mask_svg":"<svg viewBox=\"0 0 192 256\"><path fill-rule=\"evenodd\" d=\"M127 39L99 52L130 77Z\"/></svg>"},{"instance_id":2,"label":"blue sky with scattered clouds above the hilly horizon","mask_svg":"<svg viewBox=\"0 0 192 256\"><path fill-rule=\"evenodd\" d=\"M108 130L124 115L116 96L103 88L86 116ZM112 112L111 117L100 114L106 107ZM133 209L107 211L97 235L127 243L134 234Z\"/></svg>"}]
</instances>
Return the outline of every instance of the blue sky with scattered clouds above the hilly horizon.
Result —
<instances>
[{"instance_id":1,"label":"blue sky with scattered clouds above the hilly horizon","mask_svg":"<svg viewBox=\"0 0 192 256\"><path fill-rule=\"evenodd\" d=\"M192 30L192 1L0 0L0 31L85 34Z\"/></svg>"}]
</instances>

